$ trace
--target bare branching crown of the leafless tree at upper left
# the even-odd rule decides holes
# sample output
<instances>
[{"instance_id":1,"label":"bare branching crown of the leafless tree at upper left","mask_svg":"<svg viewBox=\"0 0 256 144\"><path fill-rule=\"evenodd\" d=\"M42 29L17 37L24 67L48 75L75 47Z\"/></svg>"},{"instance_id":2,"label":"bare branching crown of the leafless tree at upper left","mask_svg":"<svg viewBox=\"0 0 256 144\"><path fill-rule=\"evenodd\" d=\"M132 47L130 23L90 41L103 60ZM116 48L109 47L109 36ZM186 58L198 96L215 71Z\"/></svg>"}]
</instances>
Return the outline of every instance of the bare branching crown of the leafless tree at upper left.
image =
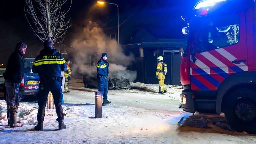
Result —
<instances>
[{"instance_id":1,"label":"bare branching crown of the leafless tree at upper left","mask_svg":"<svg viewBox=\"0 0 256 144\"><path fill-rule=\"evenodd\" d=\"M71 25L70 19L67 22L64 20L72 0L67 11L61 10L66 2L67 0L26 0L25 16L36 37L42 41L48 39L56 43L63 41L62 36Z\"/></svg>"}]
</instances>

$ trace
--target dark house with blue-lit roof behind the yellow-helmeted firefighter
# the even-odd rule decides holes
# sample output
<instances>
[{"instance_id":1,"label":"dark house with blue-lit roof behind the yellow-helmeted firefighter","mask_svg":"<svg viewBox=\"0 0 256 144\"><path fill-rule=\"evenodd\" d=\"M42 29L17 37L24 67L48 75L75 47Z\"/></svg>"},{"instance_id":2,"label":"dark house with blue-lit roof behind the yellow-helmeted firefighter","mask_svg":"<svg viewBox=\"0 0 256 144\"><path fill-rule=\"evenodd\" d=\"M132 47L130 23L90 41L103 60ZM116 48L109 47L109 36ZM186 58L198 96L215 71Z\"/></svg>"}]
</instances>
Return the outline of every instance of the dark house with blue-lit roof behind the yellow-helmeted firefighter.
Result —
<instances>
[{"instance_id":1,"label":"dark house with blue-lit roof behind the yellow-helmeted firefighter","mask_svg":"<svg viewBox=\"0 0 256 144\"><path fill-rule=\"evenodd\" d=\"M102 21L107 35L117 40L117 15ZM154 3L138 5L119 14L119 43L124 52L134 54L131 70L137 70L135 82L157 84L157 57L163 56L168 66L165 83L181 85L179 49L185 46L182 27L186 24L175 10Z\"/></svg>"}]
</instances>

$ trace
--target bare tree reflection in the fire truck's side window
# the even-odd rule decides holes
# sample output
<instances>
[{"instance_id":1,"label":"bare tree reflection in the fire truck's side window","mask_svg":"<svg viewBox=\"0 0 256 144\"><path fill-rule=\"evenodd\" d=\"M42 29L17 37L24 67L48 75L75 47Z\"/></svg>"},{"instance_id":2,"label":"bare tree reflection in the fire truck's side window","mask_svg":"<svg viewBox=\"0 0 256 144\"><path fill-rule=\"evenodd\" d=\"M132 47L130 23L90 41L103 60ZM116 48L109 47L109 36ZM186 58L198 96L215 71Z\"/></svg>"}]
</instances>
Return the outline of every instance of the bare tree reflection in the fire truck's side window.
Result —
<instances>
[{"instance_id":1,"label":"bare tree reflection in the fire truck's side window","mask_svg":"<svg viewBox=\"0 0 256 144\"><path fill-rule=\"evenodd\" d=\"M230 32L225 32L226 36L228 37L230 44L235 44L238 42L237 35L239 35L239 25L230 25Z\"/></svg>"}]
</instances>

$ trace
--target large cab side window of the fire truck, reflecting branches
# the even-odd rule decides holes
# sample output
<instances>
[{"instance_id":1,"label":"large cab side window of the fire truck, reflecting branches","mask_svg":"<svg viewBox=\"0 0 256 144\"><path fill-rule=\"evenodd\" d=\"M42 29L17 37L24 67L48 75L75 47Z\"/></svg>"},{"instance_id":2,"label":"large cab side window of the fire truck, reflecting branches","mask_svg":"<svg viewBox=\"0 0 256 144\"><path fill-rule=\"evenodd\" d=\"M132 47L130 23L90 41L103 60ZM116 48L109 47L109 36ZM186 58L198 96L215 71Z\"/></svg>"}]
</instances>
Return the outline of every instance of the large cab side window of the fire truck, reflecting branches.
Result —
<instances>
[{"instance_id":1,"label":"large cab side window of the fire truck, reflecting branches","mask_svg":"<svg viewBox=\"0 0 256 144\"><path fill-rule=\"evenodd\" d=\"M200 53L221 47L234 45L239 42L240 36L239 16L229 15L215 18L200 17L191 21L191 29L188 35L194 38L193 46L195 51ZM187 47L188 48L188 47Z\"/></svg>"}]
</instances>

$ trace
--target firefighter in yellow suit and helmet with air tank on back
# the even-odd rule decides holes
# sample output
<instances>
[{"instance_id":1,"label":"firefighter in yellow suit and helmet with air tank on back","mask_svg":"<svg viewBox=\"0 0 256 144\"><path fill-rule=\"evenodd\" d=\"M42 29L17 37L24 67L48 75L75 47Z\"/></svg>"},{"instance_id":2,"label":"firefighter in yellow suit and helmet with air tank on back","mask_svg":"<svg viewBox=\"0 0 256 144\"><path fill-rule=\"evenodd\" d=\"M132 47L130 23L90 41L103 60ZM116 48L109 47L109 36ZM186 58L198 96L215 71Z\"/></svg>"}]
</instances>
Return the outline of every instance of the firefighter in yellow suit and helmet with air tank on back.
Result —
<instances>
[{"instance_id":1,"label":"firefighter in yellow suit and helmet with air tank on back","mask_svg":"<svg viewBox=\"0 0 256 144\"><path fill-rule=\"evenodd\" d=\"M165 75L167 73L167 65L164 63L164 59L162 56L157 58L158 64L156 67L156 78L159 82L159 92L158 93L167 93L166 85L164 84Z\"/></svg>"}]
</instances>

